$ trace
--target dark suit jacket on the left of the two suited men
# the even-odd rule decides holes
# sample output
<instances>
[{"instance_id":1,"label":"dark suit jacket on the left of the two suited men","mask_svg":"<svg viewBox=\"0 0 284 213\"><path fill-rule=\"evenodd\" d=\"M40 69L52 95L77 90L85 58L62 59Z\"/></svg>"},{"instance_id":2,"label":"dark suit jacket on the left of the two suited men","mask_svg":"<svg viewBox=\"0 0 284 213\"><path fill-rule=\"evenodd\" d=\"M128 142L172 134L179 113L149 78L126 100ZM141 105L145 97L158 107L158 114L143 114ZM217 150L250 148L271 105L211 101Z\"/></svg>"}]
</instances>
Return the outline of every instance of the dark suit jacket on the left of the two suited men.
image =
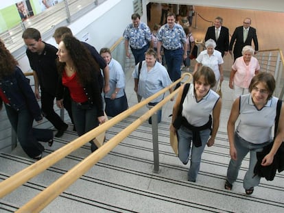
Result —
<instances>
[{"instance_id":1,"label":"dark suit jacket on the left of the two suited men","mask_svg":"<svg viewBox=\"0 0 284 213\"><path fill-rule=\"evenodd\" d=\"M217 51L220 51L222 53L222 57L224 56L224 51L228 51L229 49L229 33L228 33L228 28L227 27L221 27L220 35L218 40L216 41L215 38L215 26L208 27L206 36L205 36L205 41L209 40L209 38L215 40L216 42L216 47Z\"/></svg>"}]
</instances>

